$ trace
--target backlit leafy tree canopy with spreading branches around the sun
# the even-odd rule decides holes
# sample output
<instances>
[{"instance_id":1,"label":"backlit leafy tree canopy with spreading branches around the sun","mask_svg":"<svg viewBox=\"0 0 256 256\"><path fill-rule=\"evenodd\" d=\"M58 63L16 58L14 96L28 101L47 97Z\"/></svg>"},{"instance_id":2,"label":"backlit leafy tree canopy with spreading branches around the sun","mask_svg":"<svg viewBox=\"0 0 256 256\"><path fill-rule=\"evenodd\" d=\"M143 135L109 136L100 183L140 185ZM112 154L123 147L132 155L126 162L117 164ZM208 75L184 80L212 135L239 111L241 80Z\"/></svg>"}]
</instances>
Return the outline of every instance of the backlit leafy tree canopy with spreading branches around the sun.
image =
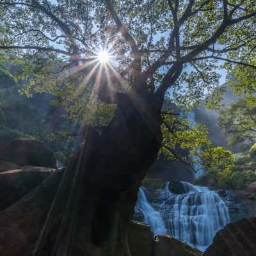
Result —
<instances>
[{"instance_id":1,"label":"backlit leafy tree canopy with spreading branches around the sun","mask_svg":"<svg viewBox=\"0 0 256 256\"><path fill-rule=\"evenodd\" d=\"M244 84L254 90L248 79L255 77L255 1L9 0L0 6L2 59L22 65L17 79L29 81L23 92L51 92L67 109L77 102L81 109L90 101L84 93L100 84L151 93L159 108L168 88L183 106L212 91L217 100L207 102L216 104L222 63L236 71L237 90ZM111 52L112 63L95 60L100 48Z\"/></svg>"}]
</instances>

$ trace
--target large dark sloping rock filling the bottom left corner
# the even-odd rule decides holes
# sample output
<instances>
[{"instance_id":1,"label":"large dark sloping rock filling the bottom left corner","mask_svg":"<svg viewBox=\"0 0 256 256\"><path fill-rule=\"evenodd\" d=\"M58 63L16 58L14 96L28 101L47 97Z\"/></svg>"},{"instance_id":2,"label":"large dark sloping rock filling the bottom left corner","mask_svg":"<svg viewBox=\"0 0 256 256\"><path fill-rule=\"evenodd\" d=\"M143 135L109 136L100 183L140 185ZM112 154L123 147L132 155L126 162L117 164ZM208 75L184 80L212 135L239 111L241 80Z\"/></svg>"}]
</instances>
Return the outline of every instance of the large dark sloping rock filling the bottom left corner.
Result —
<instances>
[{"instance_id":1,"label":"large dark sloping rock filling the bottom left corner","mask_svg":"<svg viewBox=\"0 0 256 256\"><path fill-rule=\"evenodd\" d=\"M48 175L42 184L0 211L1 256L33 255L62 173Z\"/></svg>"}]
</instances>

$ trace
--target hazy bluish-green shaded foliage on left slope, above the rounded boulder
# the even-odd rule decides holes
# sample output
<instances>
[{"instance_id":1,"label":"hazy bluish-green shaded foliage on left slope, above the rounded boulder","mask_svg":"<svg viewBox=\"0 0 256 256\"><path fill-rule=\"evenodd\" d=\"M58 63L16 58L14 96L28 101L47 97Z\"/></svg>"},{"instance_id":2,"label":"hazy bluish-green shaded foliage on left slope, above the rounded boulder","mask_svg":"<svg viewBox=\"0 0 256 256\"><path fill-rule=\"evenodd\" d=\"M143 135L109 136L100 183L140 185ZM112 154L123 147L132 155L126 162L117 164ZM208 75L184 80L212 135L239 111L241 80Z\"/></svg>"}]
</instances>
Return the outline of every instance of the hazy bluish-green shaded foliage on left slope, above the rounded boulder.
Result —
<instances>
[{"instance_id":1,"label":"hazy bluish-green shaded foliage on left slope, above the rounded boulder","mask_svg":"<svg viewBox=\"0 0 256 256\"><path fill-rule=\"evenodd\" d=\"M44 109L36 108L33 102L20 95L18 92L20 87L15 85L10 72L6 68L3 70L4 72L0 73L2 85L0 87L0 141L13 139L42 141L64 164L67 157L78 148L76 133L78 129L70 131L72 126L65 118L61 120L61 127L55 128L54 124L47 121L49 116ZM40 106L44 100L37 97L37 102ZM50 102L47 104L50 106Z\"/></svg>"}]
</instances>

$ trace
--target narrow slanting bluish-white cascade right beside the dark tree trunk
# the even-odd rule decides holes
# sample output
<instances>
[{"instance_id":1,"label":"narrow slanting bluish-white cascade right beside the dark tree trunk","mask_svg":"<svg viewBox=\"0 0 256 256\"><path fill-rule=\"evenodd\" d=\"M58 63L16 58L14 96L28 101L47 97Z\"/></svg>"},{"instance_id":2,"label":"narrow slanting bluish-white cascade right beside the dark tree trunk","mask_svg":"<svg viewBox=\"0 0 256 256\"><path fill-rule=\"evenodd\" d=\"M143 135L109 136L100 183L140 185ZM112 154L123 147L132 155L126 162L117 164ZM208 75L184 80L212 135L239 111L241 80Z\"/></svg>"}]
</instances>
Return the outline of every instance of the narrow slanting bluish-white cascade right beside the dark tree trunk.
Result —
<instances>
[{"instance_id":1,"label":"narrow slanting bluish-white cascade right beside the dark tree trunk","mask_svg":"<svg viewBox=\"0 0 256 256\"><path fill-rule=\"evenodd\" d=\"M154 236L167 234L163 218L159 212L148 203L143 188L139 189L138 200L134 210L135 212L141 212L143 214L143 222L150 225Z\"/></svg>"}]
</instances>

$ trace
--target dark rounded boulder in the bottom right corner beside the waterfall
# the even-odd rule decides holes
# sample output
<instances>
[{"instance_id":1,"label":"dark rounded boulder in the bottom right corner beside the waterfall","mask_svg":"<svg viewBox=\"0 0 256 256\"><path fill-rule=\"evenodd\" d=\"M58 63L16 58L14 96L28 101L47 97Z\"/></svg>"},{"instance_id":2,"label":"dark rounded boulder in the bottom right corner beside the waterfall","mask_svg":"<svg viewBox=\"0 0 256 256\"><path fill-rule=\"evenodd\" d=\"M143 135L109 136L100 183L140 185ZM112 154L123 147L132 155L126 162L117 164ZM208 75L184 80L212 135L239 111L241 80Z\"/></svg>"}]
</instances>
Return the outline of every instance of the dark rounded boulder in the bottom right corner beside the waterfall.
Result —
<instances>
[{"instance_id":1,"label":"dark rounded boulder in the bottom right corner beside the waterfall","mask_svg":"<svg viewBox=\"0 0 256 256\"><path fill-rule=\"evenodd\" d=\"M255 256L256 218L229 223L214 237L204 256Z\"/></svg>"}]
</instances>

